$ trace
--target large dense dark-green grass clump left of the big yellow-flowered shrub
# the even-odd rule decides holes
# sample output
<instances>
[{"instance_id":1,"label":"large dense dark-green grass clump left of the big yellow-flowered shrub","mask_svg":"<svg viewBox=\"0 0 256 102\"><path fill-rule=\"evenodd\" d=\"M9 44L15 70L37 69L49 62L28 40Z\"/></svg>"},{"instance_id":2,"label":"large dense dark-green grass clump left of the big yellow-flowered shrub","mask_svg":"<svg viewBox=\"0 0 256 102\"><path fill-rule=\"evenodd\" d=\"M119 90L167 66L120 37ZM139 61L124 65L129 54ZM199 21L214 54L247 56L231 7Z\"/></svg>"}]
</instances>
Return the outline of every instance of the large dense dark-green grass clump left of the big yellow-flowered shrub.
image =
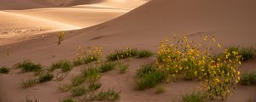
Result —
<instances>
[{"instance_id":1,"label":"large dense dark-green grass clump left of the big yellow-flowered shrub","mask_svg":"<svg viewBox=\"0 0 256 102\"><path fill-rule=\"evenodd\" d=\"M158 71L154 68L154 65L143 65L141 69L137 71L137 88L140 90L146 88L152 88L157 83L162 82L165 79L165 73Z\"/></svg>"}]
</instances>

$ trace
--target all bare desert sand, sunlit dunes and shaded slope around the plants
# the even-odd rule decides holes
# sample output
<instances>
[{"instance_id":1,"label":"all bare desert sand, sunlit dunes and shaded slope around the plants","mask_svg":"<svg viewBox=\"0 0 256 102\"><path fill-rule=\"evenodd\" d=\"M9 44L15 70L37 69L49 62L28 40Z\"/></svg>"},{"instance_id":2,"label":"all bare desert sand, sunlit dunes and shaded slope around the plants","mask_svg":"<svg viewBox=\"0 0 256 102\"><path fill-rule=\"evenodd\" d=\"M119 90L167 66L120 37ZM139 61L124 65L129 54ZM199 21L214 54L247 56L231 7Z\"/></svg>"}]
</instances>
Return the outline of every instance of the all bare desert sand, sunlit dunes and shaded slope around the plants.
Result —
<instances>
[{"instance_id":1,"label":"all bare desert sand, sunlit dunes and shaded slope around the plants","mask_svg":"<svg viewBox=\"0 0 256 102\"><path fill-rule=\"evenodd\" d=\"M186 34L201 42L202 37L217 37L223 46L256 46L255 0L0 0L0 65L13 67L30 59L50 65L61 59L74 59L80 45L101 46L103 55L114 50L145 48L156 52L160 41L172 34ZM66 31L60 46L55 31ZM207 45L207 43L205 43ZM6 55L7 48L11 54ZM212 47L217 48L217 47ZM218 52L218 50L216 50ZM55 57L53 57L55 56ZM104 88L122 91L120 102L167 102L198 90L200 82L163 84L164 94L154 94L154 88L137 91L133 77L140 65L154 58L125 60L130 71L119 75L110 71L101 79ZM256 71L256 59L241 65L241 71ZM22 89L22 79L32 73L0 75L0 101L20 102L26 97L40 102L57 102L67 97L58 86L69 82L82 66L75 67L61 82L45 82ZM228 102L256 101L256 87L238 85Z\"/></svg>"}]
</instances>

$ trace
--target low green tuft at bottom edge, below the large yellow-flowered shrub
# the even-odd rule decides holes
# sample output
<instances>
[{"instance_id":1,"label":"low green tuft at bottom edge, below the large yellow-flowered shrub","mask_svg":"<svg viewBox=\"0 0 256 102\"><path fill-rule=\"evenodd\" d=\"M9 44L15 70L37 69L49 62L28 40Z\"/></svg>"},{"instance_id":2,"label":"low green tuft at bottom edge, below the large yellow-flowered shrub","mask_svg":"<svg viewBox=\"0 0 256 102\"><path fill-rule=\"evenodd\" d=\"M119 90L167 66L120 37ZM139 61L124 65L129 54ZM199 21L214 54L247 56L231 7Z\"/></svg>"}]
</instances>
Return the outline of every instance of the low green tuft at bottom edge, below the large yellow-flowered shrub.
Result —
<instances>
[{"instance_id":1,"label":"low green tuft at bottom edge, below the large yellow-flowered shrub","mask_svg":"<svg viewBox=\"0 0 256 102\"><path fill-rule=\"evenodd\" d=\"M182 96L182 102L205 102L207 94L201 92L194 92L192 94L185 94Z\"/></svg>"}]
</instances>

